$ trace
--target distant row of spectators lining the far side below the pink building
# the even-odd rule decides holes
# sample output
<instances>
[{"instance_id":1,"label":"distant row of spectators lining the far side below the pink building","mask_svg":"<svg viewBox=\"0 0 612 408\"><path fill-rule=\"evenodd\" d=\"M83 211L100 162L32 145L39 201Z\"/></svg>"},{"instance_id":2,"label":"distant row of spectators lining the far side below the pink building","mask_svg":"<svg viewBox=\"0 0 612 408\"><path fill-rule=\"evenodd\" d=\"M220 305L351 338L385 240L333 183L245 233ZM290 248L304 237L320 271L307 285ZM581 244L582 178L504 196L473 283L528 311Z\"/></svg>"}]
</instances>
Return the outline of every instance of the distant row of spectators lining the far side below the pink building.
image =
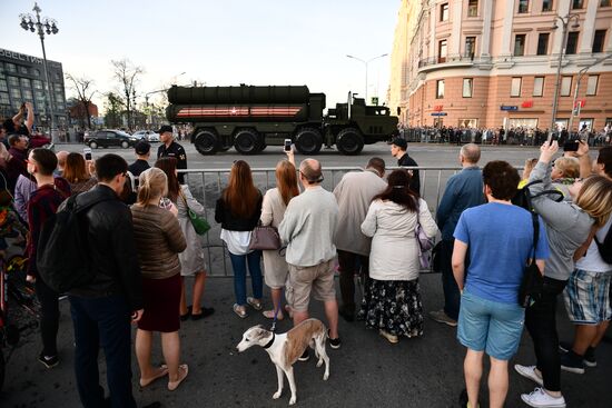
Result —
<instances>
[{"instance_id":1,"label":"distant row of spectators lining the far side below the pink building","mask_svg":"<svg viewBox=\"0 0 612 408\"><path fill-rule=\"evenodd\" d=\"M399 126L399 133L412 142L424 143L478 143L478 145L521 145L541 146L549 137L549 129L532 127L509 127L503 128L472 128L472 127L405 127ZM554 139L560 146L564 142L581 139L591 147L610 146L612 143L612 125L606 125L600 131L589 129L583 123L579 131L570 132L566 128L555 131Z\"/></svg>"}]
</instances>

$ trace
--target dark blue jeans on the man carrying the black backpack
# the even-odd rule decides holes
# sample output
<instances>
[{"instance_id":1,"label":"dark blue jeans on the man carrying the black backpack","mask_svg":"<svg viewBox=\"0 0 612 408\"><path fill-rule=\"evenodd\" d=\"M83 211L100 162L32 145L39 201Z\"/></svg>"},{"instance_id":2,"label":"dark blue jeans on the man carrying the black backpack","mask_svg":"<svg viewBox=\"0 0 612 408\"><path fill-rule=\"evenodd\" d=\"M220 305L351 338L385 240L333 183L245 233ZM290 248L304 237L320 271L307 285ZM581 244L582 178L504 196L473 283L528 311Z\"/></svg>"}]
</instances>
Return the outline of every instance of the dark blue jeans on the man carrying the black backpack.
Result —
<instances>
[{"instance_id":1,"label":"dark blue jeans on the man carrying the black backpack","mask_svg":"<svg viewBox=\"0 0 612 408\"><path fill-rule=\"evenodd\" d=\"M70 296L70 311L77 345L75 372L83 407L108 407L98 371L101 346L106 356L111 406L136 408L131 394L131 311L126 299L122 296Z\"/></svg>"}]
</instances>

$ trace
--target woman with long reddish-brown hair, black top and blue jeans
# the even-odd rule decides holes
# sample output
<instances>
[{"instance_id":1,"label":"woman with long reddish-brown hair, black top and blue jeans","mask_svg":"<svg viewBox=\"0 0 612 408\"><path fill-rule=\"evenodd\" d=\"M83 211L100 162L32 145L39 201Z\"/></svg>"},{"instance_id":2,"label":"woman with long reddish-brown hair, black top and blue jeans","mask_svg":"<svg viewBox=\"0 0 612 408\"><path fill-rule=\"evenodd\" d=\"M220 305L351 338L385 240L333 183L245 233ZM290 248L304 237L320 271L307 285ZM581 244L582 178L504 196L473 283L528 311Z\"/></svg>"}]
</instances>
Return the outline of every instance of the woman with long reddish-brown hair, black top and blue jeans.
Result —
<instances>
[{"instance_id":1,"label":"woman with long reddish-brown hair, black top and blue jeans","mask_svg":"<svg viewBox=\"0 0 612 408\"><path fill-rule=\"evenodd\" d=\"M234 312L247 317L246 305L261 310L264 282L261 279L261 251L249 250L250 232L261 215L261 192L253 183L250 167L244 160L231 166L227 188L215 207L215 220L221 225L221 239L227 245L234 269ZM253 297L246 296L247 263L253 286Z\"/></svg>"}]
</instances>

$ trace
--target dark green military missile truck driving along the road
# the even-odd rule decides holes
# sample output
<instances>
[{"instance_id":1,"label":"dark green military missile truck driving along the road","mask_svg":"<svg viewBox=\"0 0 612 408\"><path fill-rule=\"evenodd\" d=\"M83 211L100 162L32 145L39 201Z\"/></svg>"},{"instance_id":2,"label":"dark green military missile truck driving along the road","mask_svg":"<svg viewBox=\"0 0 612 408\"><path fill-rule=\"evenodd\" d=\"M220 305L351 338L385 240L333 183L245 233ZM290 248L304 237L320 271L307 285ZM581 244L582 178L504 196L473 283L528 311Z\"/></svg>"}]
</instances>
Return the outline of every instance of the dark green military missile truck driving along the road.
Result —
<instances>
[{"instance_id":1,"label":"dark green military missile truck driving along the road","mask_svg":"<svg viewBox=\"0 0 612 408\"><path fill-rule=\"evenodd\" d=\"M168 90L170 123L191 123L190 139L201 155L234 147L255 155L292 139L303 155L316 155L323 143L343 155L358 155L364 145L397 132L387 107L366 106L348 92L324 116L325 93L306 86L177 87Z\"/></svg>"}]
</instances>

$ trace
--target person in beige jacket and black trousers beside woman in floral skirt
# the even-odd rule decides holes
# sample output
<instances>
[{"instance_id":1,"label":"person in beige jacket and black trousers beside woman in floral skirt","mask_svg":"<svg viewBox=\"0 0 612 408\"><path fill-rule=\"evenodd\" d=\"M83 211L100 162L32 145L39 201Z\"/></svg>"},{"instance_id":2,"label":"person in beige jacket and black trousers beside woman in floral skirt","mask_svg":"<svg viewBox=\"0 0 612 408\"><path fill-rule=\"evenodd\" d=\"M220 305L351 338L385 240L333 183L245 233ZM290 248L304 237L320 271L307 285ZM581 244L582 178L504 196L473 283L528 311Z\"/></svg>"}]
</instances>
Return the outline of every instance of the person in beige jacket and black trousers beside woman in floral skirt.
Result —
<instances>
[{"instance_id":1,"label":"person in beige jacket and black trousers beside woman in floral skirt","mask_svg":"<svg viewBox=\"0 0 612 408\"><path fill-rule=\"evenodd\" d=\"M346 321L355 319L355 272L359 270L362 276L368 277L372 239L362 233L361 226L374 196L387 187L384 176L385 161L374 157L364 171L347 172L334 189L339 207L335 233L342 292L338 314Z\"/></svg>"}]
</instances>

